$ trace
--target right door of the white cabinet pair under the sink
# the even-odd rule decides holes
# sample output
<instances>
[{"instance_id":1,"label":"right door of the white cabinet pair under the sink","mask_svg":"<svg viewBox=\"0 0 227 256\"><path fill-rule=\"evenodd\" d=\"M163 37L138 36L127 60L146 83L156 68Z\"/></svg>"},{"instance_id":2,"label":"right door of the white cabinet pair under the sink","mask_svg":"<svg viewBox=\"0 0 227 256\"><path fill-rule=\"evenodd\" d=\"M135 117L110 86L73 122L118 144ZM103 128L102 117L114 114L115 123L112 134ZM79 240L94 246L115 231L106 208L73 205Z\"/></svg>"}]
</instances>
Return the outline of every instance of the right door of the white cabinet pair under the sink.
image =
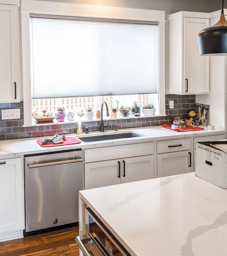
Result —
<instances>
[{"instance_id":1,"label":"right door of the white cabinet pair under the sink","mask_svg":"<svg viewBox=\"0 0 227 256\"><path fill-rule=\"evenodd\" d=\"M121 159L121 183L153 179L154 156Z\"/></svg>"}]
</instances>

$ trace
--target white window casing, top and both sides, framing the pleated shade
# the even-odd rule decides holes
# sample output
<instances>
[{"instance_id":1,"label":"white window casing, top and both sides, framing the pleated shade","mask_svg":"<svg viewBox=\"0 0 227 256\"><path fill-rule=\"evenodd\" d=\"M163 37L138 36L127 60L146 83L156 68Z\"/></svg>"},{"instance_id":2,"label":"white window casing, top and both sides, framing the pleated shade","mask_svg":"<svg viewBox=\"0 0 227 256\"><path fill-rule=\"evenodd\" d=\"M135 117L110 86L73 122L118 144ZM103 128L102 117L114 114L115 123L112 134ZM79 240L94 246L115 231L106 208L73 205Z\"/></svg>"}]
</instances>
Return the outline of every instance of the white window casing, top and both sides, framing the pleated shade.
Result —
<instances>
[{"instance_id":1,"label":"white window casing, top and both sides, framing the pleated shade","mask_svg":"<svg viewBox=\"0 0 227 256\"><path fill-rule=\"evenodd\" d=\"M158 22L159 36L159 115L165 115L165 11L79 5L70 3L21 0L22 75L24 125L31 125L32 49L31 15L62 16L63 18L110 19L125 22ZM68 17L67 17L68 16ZM147 24L147 23L145 23Z\"/></svg>"}]
</instances>

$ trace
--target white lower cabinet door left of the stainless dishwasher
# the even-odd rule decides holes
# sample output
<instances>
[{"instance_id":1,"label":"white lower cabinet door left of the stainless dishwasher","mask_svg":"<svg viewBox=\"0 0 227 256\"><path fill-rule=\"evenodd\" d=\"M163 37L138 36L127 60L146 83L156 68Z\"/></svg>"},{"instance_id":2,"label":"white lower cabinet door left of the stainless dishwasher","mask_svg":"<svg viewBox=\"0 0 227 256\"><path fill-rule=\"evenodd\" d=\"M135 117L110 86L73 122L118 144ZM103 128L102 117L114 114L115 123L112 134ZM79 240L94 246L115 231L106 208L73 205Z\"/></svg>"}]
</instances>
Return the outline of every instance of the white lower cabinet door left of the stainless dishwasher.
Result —
<instances>
[{"instance_id":1,"label":"white lower cabinet door left of the stainless dishwasher","mask_svg":"<svg viewBox=\"0 0 227 256\"><path fill-rule=\"evenodd\" d=\"M21 158L0 160L0 233L23 229Z\"/></svg>"}]
</instances>

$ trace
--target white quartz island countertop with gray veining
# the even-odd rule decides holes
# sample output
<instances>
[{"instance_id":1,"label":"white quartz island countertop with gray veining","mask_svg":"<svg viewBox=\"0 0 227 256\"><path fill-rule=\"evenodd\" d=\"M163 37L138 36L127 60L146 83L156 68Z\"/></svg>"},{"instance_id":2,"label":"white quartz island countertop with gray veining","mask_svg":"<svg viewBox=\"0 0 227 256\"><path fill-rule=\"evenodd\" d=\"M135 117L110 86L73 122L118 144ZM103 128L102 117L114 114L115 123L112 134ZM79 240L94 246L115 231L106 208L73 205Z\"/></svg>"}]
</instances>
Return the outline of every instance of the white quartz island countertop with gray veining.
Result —
<instances>
[{"instance_id":1,"label":"white quartz island countertop with gray veining","mask_svg":"<svg viewBox=\"0 0 227 256\"><path fill-rule=\"evenodd\" d=\"M80 191L131 255L227 255L227 189L194 173Z\"/></svg>"}]
</instances>

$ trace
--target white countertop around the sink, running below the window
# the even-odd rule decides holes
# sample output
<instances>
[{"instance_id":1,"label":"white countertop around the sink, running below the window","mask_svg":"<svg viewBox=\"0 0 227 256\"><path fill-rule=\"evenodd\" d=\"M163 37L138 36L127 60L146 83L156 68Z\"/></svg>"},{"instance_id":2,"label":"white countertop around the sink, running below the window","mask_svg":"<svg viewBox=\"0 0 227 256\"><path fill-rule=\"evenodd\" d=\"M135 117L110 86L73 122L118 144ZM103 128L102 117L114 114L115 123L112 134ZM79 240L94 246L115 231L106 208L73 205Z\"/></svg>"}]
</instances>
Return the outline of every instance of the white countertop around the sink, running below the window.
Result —
<instances>
[{"instance_id":1,"label":"white countertop around the sink, running below the window","mask_svg":"<svg viewBox=\"0 0 227 256\"><path fill-rule=\"evenodd\" d=\"M127 131L134 131L136 133L140 133L144 136L135 137L135 138L127 138L127 139L117 139L117 140L106 140L106 141L96 141L96 142L81 142L80 144L68 145L68 146L56 146L56 147L41 147L36 141L42 138L32 138L32 139L19 139L19 140L9 140L9 141L1 141L0 142L0 157L8 157L8 156L20 156L24 154L34 154L34 153L42 153L42 152L52 152L59 150L68 150L68 149L77 149L77 148L95 148L95 147L104 147L104 146L115 146L115 145L123 145L123 144L133 144L133 143L143 143L155 140L163 140L163 139L177 139L177 138L189 138L195 136L209 136L215 134L223 134L226 133L224 129L215 129L211 130L201 130L201 131L188 131L188 132L176 132L161 126L154 127L144 127L144 128L136 128L136 129L122 129L118 131L105 131L104 133L93 132L89 134L82 135L83 137L93 136L93 135L105 135L112 133L123 133ZM68 136L77 136L76 134L69 134ZM51 137L51 136L49 136Z\"/></svg>"}]
</instances>

